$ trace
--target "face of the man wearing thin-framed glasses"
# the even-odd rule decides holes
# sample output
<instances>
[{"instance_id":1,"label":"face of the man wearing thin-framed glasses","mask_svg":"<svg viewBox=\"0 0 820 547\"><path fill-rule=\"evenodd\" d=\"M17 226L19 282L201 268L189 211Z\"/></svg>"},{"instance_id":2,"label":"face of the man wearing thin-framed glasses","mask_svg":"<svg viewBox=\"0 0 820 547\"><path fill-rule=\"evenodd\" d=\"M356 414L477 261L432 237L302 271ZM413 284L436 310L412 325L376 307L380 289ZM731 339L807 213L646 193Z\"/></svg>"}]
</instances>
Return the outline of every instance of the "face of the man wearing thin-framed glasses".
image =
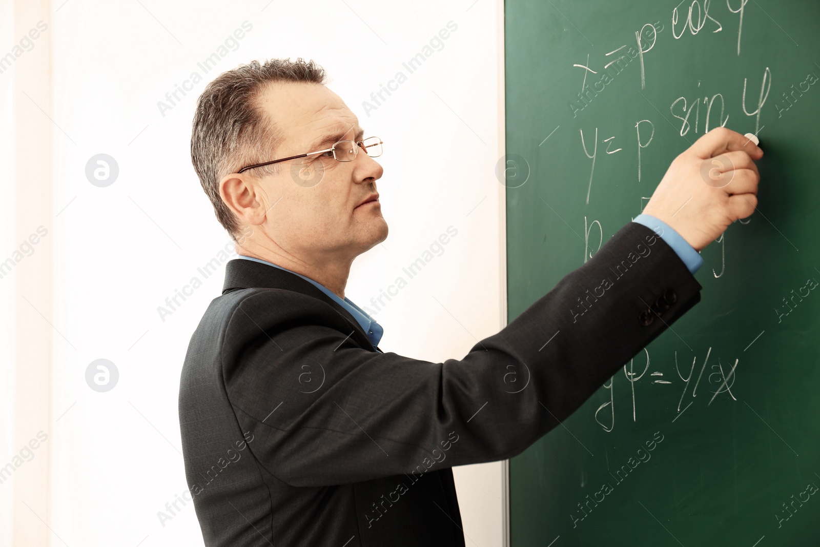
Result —
<instances>
[{"instance_id":1,"label":"face of the man wearing thin-framed glasses","mask_svg":"<svg viewBox=\"0 0 820 547\"><path fill-rule=\"evenodd\" d=\"M270 84L263 89L258 107L266 123L273 122L280 139L276 148L271 147L270 157L260 162L369 136L339 95L321 84ZM338 162L328 152L275 165L276 175L246 180L265 211L257 228L286 252L307 262L352 259L387 238L376 191L383 169L361 147L350 162Z\"/></svg>"}]
</instances>

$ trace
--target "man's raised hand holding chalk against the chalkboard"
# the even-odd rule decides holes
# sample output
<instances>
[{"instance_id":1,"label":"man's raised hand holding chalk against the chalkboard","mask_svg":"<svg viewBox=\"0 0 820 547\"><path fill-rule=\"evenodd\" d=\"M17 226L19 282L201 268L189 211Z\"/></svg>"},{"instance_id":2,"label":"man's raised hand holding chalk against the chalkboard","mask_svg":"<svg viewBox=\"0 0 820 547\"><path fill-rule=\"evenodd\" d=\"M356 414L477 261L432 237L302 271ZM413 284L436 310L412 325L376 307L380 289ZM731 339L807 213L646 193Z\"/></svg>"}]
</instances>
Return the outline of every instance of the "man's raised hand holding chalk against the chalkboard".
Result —
<instances>
[{"instance_id":1,"label":"man's raised hand holding chalk against the chalkboard","mask_svg":"<svg viewBox=\"0 0 820 547\"><path fill-rule=\"evenodd\" d=\"M754 160L761 157L748 137L716 127L675 158L644 212L699 251L754 212L760 180Z\"/></svg>"}]
</instances>

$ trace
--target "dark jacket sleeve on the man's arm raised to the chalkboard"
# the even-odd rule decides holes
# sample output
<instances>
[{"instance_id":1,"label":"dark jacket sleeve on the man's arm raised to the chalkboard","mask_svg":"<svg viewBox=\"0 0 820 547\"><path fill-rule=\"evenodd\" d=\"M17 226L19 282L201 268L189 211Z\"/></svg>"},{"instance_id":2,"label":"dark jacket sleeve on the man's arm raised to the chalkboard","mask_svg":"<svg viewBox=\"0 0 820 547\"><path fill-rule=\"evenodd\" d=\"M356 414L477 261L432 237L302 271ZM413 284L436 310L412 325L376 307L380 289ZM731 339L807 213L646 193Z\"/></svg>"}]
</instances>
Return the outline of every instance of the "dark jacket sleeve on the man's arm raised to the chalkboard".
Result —
<instances>
[{"instance_id":1,"label":"dark jacket sleeve on the man's arm raised to the chalkboard","mask_svg":"<svg viewBox=\"0 0 820 547\"><path fill-rule=\"evenodd\" d=\"M225 327L225 386L258 463L289 485L510 458L698 303L700 289L663 239L631 222L508 326L444 362L362 349L326 303L253 289Z\"/></svg>"}]
</instances>

